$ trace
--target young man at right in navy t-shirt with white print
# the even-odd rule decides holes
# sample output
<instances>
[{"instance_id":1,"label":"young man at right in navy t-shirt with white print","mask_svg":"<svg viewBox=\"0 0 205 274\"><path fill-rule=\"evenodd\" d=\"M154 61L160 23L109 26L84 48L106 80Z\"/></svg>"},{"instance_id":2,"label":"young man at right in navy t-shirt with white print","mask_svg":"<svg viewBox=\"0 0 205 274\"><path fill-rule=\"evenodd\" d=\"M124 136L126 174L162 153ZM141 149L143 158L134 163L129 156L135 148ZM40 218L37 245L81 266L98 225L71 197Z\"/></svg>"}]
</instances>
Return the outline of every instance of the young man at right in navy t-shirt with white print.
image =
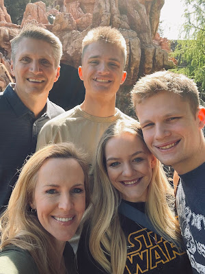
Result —
<instances>
[{"instance_id":1,"label":"young man at right in navy t-shirt with white print","mask_svg":"<svg viewBox=\"0 0 205 274\"><path fill-rule=\"evenodd\" d=\"M143 138L163 164L180 175L176 209L193 273L205 273L205 109L193 80L160 71L131 91Z\"/></svg>"}]
</instances>

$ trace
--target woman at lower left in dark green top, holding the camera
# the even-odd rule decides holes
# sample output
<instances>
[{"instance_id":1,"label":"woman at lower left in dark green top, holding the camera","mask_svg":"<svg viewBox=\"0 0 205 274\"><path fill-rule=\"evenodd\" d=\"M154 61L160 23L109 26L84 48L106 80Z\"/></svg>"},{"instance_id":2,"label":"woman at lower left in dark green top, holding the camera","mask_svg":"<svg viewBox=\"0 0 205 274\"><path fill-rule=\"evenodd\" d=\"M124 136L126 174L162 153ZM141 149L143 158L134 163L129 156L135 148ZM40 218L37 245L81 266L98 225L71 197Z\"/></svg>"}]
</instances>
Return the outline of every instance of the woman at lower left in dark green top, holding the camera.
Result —
<instances>
[{"instance_id":1,"label":"woman at lower left in dark green top, holding the camera","mask_svg":"<svg viewBox=\"0 0 205 274\"><path fill-rule=\"evenodd\" d=\"M84 156L71 143L31 156L1 216L0 273L77 273L66 241L90 202L87 183Z\"/></svg>"}]
</instances>

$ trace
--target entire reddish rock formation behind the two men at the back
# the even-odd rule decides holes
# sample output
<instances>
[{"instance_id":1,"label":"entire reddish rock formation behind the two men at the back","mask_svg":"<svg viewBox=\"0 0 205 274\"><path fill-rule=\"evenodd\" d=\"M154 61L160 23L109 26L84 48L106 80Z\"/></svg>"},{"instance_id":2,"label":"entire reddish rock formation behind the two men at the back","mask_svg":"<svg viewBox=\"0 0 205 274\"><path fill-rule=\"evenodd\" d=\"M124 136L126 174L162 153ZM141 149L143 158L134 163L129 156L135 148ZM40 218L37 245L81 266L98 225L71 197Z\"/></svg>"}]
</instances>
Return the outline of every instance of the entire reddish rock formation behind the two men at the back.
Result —
<instances>
[{"instance_id":1,"label":"entire reddish rock formation behind the two men at the back","mask_svg":"<svg viewBox=\"0 0 205 274\"><path fill-rule=\"evenodd\" d=\"M125 66L128 76L124 86L131 87L142 75L174 66L165 51L167 49L164 50L155 38L164 1L56 0L56 8L53 6L47 11L46 5L38 1L27 4L21 27L31 22L57 35L64 50L61 62L74 68L81 64L81 43L92 27L111 25L119 29L126 40L128 51ZM20 26L12 24L3 0L0 0L0 16L0 50L3 58L9 62L9 41ZM127 91L124 92L126 97ZM123 91L120 96L123 96Z\"/></svg>"}]
</instances>

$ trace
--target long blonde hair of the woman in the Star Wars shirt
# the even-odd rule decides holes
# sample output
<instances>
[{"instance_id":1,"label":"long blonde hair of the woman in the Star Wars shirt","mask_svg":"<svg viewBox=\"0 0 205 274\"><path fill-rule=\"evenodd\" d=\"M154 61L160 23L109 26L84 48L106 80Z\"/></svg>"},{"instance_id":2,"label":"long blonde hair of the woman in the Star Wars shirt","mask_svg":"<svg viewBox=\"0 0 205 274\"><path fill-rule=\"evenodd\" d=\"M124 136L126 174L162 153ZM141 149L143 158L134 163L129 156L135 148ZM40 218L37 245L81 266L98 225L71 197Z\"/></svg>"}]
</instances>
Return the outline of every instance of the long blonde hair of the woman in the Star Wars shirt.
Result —
<instances>
[{"instance_id":1,"label":"long blonde hair of the woman in the Star Wars shirt","mask_svg":"<svg viewBox=\"0 0 205 274\"><path fill-rule=\"evenodd\" d=\"M103 134L98 144L94 165L94 207L90 213L90 251L107 273L122 274L126 265L126 238L120 226L118 206L120 192L111 184L107 175L105 146L107 141L124 132L134 134L142 142L141 127L136 122L118 121ZM148 186L146 214L159 235L180 242L180 228L174 216L174 191L167 181L159 160L152 169Z\"/></svg>"}]
</instances>

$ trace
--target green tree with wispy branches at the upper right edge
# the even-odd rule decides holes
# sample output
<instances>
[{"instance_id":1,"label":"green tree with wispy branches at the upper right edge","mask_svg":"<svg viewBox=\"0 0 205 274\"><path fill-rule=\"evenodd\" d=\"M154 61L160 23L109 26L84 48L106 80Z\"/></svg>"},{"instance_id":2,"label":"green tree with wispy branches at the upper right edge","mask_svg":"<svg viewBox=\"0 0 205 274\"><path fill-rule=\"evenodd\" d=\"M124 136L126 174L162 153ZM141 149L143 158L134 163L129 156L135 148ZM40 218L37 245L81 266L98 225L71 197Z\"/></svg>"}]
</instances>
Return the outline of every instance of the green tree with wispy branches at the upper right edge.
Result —
<instances>
[{"instance_id":1,"label":"green tree with wispy branches at the upper right edge","mask_svg":"<svg viewBox=\"0 0 205 274\"><path fill-rule=\"evenodd\" d=\"M182 0L186 7L184 24L174 56L178 59L177 73L184 73L205 92L205 2L204 0ZM181 64L185 64L180 68Z\"/></svg>"}]
</instances>

